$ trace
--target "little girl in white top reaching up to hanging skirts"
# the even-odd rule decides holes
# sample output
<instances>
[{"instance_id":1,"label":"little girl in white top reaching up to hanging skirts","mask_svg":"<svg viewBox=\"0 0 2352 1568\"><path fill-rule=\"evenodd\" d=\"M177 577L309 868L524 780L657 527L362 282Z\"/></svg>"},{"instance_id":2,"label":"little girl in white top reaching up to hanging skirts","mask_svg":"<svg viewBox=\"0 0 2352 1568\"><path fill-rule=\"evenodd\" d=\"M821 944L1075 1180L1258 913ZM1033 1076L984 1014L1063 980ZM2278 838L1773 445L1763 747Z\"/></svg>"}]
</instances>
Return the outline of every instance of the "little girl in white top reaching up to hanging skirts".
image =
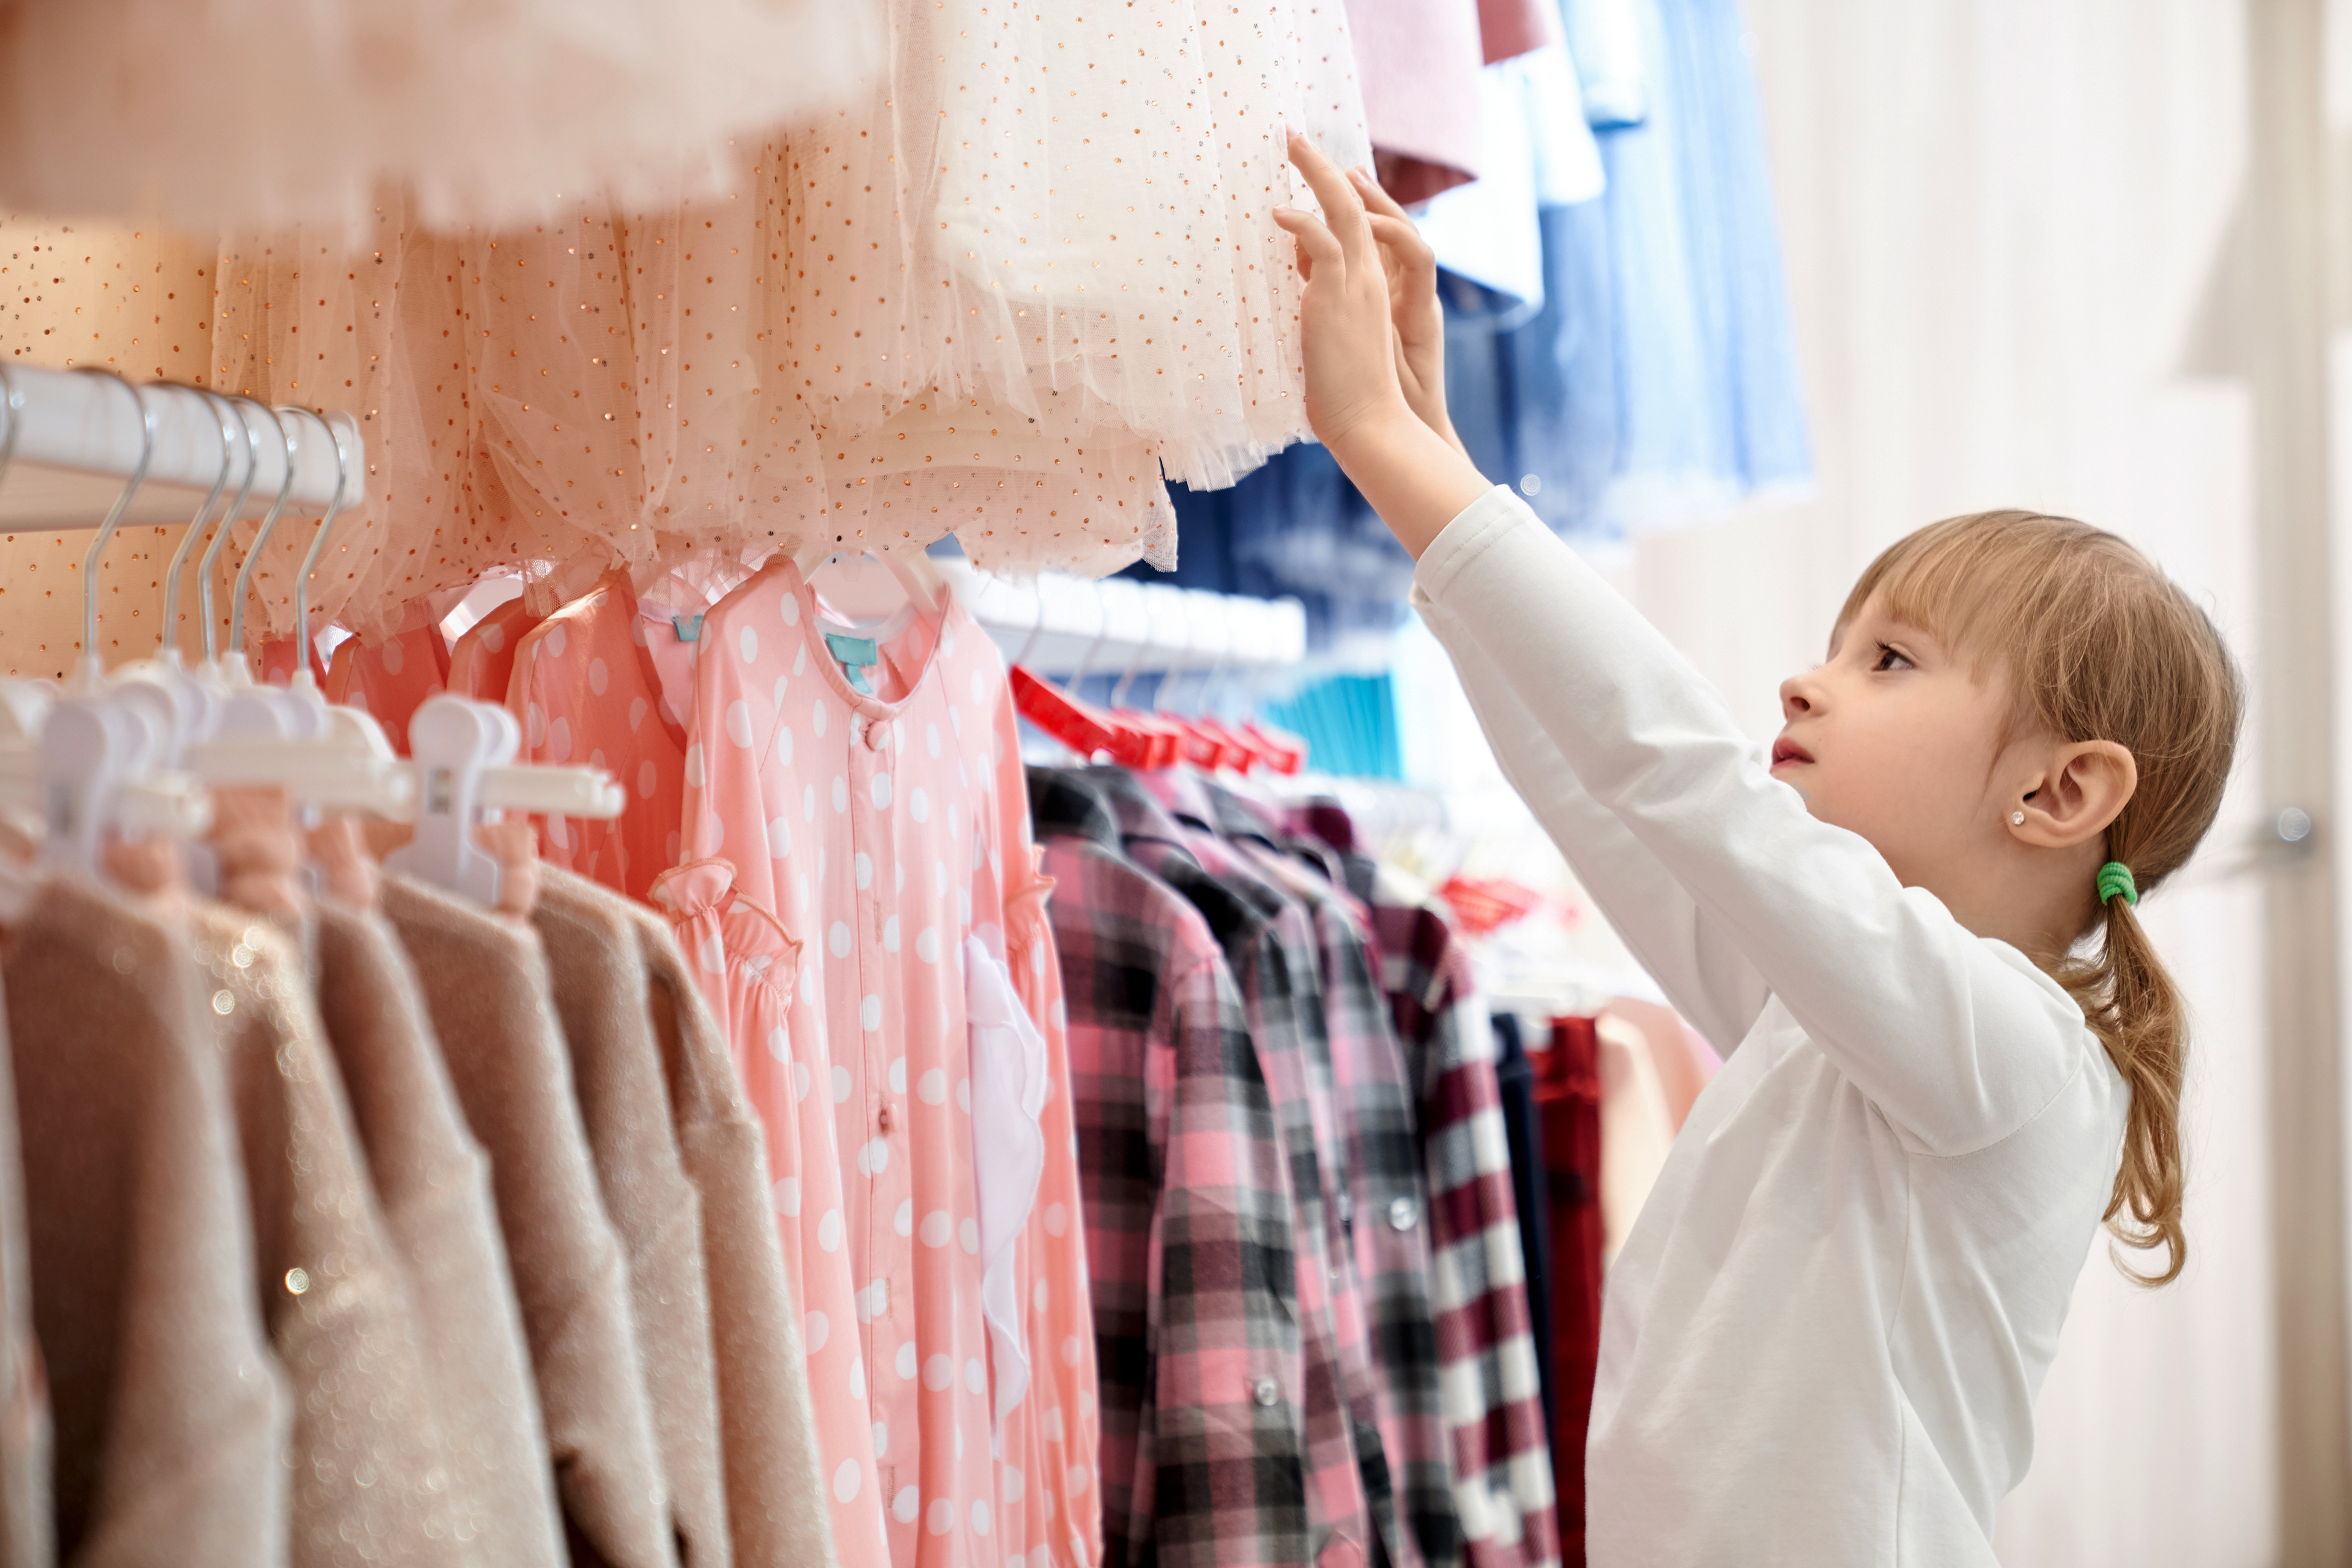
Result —
<instances>
[{"instance_id":1,"label":"little girl in white top reaching up to hanging skirts","mask_svg":"<svg viewBox=\"0 0 2352 1568\"><path fill-rule=\"evenodd\" d=\"M1955 517L1870 564L1757 755L1463 456L1404 214L1291 158L1315 435L1512 785L1729 1053L1609 1274L1590 1561L1990 1566L2098 1225L2161 1251L2147 1284L2185 1258L2180 1001L2133 905L2220 804L2230 654L2110 534Z\"/></svg>"}]
</instances>

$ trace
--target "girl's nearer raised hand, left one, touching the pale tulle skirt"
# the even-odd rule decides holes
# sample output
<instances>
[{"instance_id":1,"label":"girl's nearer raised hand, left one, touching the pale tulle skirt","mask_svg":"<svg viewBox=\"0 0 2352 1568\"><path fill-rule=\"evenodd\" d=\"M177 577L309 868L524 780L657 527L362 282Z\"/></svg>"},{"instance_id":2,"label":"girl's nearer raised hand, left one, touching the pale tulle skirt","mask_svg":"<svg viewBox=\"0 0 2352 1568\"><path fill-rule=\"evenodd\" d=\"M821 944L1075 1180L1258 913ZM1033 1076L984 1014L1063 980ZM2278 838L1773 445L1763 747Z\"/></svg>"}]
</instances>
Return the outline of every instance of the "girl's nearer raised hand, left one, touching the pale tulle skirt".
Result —
<instances>
[{"instance_id":1,"label":"girl's nearer raised hand, left one, touching the pale tulle skirt","mask_svg":"<svg viewBox=\"0 0 2352 1568\"><path fill-rule=\"evenodd\" d=\"M1350 437L1395 416L1411 418L1397 381L1397 331L1388 270L1355 186L1322 150L1291 132L1291 162L1315 188L1324 214L1275 207L1275 223L1298 242L1301 357L1308 371L1308 425L1338 451Z\"/></svg>"}]
</instances>

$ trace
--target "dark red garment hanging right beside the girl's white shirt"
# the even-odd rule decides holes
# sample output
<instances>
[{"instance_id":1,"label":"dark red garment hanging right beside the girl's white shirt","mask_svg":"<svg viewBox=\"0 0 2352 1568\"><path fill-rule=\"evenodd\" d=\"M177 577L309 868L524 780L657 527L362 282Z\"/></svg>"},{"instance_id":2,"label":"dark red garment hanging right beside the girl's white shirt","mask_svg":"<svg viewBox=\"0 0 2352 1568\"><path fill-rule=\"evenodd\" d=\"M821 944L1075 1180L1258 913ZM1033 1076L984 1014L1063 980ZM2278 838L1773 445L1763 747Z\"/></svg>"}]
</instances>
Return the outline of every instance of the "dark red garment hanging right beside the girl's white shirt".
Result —
<instances>
[{"instance_id":1,"label":"dark red garment hanging right beside the girl's white shirt","mask_svg":"<svg viewBox=\"0 0 2352 1568\"><path fill-rule=\"evenodd\" d=\"M1555 1018L1536 1060L1536 1112L1552 1192L1552 1486L1559 1561L1585 1561L1585 1425L1602 1359L1602 1039Z\"/></svg>"}]
</instances>

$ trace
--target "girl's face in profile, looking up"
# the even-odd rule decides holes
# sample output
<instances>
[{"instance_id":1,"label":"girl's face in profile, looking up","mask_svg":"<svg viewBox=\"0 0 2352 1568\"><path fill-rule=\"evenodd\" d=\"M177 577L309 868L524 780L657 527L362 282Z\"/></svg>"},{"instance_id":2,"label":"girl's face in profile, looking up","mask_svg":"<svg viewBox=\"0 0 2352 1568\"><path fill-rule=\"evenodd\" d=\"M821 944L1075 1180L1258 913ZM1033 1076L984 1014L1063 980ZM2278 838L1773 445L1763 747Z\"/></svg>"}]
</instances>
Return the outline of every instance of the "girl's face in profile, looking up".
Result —
<instances>
[{"instance_id":1,"label":"girl's face in profile, looking up","mask_svg":"<svg viewBox=\"0 0 2352 1568\"><path fill-rule=\"evenodd\" d=\"M2004 842L2009 693L1870 599L1830 658L1780 682L1771 776L1863 835L1905 886L1950 898ZM2009 769L2013 771L2013 769Z\"/></svg>"}]
</instances>

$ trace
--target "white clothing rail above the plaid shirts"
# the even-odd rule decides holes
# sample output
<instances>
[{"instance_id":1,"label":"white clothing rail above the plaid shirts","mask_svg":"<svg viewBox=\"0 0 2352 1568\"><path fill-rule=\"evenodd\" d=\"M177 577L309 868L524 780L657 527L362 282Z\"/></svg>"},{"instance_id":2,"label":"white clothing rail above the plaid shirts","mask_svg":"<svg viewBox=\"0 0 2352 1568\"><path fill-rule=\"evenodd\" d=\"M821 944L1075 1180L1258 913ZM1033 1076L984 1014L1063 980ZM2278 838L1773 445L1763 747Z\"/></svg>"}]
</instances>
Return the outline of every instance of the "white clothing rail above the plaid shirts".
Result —
<instances>
[{"instance_id":1,"label":"white clothing rail above the plaid shirts","mask_svg":"<svg viewBox=\"0 0 2352 1568\"><path fill-rule=\"evenodd\" d=\"M1037 675L1272 670L1296 665L1308 651L1298 599L1056 571L1004 578L960 559L938 567L1004 656Z\"/></svg>"}]
</instances>

